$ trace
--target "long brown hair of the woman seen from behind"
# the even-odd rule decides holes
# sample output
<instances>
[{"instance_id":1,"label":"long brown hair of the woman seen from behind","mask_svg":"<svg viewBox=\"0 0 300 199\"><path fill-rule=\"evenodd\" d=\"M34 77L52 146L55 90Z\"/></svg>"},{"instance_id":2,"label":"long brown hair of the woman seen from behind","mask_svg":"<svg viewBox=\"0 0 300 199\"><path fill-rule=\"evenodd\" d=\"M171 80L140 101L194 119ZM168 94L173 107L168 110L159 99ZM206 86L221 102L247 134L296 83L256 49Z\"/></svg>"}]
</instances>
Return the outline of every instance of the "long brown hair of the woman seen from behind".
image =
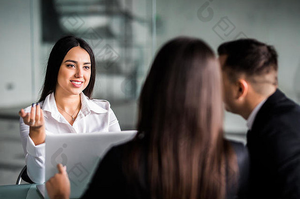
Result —
<instances>
[{"instance_id":1,"label":"long brown hair of the woman seen from behind","mask_svg":"<svg viewBox=\"0 0 300 199\"><path fill-rule=\"evenodd\" d=\"M213 51L196 38L169 41L140 95L137 142L124 166L129 182L143 183L139 161L146 146L152 198L226 198L226 176L236 176L238 167L222 123L221 74ZM138 142L143 136L144 146Z\"/></svg>"}]
</instances>

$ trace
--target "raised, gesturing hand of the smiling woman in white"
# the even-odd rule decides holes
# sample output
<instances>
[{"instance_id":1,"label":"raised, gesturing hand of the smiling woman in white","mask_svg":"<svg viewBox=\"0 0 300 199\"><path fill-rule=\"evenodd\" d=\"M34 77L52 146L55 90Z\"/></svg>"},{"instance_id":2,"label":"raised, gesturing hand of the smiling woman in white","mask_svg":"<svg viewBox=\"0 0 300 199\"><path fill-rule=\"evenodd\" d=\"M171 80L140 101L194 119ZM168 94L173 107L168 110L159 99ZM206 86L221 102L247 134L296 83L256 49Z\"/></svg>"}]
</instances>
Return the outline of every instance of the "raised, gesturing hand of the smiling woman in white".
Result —
<instances>
[{"instance_id":1,"label":"raised, gesturing hand of the smiling woman in white","mask_svg":"<svg viewBox=\"0 0 300 199\"><path fill-rule=\"evenodd\" d=\"M39 104L32 104L30 113L25 113L24 109L21 109L19 115L23 118L25 124L29 125L29 136L35 145L45 142L45 120L43 110Z\"/></svg>"}]
</instances>

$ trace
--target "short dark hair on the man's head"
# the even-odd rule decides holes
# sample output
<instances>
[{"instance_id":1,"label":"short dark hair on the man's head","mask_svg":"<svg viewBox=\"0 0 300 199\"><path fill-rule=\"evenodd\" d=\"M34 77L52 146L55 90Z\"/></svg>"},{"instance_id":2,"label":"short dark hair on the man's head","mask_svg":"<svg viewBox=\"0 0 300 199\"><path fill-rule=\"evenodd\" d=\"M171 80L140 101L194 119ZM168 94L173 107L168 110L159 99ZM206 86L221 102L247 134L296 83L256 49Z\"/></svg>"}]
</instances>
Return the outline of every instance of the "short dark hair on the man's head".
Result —
<instances>
[{"instance_id":1,"label":"short dark hair on the man's head","mask_svg":"<svg viewBox=\"0 0 300 199\"><path fill-rule=\"evenodd\" d=\"M262 75L270 70L277 71L277 53L273 46L255 39L239 39L223 43L218 54L226 55L222 69L231 69L234 73L246 76Z\"/></svg>"}]
</instances>

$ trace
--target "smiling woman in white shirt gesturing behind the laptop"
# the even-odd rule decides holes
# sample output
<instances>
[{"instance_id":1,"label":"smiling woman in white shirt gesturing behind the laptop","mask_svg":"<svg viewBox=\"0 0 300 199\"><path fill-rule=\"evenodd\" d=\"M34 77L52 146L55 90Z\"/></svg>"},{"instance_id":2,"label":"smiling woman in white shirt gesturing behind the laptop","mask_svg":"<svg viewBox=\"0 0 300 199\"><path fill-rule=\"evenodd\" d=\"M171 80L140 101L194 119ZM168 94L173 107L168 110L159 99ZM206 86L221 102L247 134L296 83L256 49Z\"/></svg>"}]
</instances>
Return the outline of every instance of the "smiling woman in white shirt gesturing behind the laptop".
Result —
<instances>
[{"instance_id":1,"label":"smiling woman in white shirt gesturing behind the laptop","mask_svg":"<svg viewBox=\"0 0 300 199\"><path fill-rule=\"evenodd\" d=\"M48 133L120 131L105 100L91 99L95 59L87 42L74 36L53 47L39 103L20 111L20 134L27 171L35 183L45 181L45 137Z\"/></svg>"}]
</instances>

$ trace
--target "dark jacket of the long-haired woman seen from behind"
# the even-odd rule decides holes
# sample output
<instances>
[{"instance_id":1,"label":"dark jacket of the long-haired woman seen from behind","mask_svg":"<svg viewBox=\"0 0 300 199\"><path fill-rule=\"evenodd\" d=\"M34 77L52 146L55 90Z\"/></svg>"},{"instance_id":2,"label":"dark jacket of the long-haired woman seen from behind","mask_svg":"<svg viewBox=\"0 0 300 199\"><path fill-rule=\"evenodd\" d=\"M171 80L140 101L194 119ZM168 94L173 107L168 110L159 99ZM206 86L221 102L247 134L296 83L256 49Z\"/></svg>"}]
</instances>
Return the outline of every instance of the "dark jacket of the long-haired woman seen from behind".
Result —
<instances>
[{"instance_id":1,"label":"dark jacket of the long-haired woman seen from behind","mask_svg":"<svg viewBox=\"0 0 300 199\"><path fill-rule=\"evenodd\" d=\"M150 189L147 186L147 172L142 180L144 183L138 187L132 187L126 181L122 170L122 154L127 149L131 141L111 148L100 162L92 177L89 188L85 192L83 199L90 198L150 198ZM249 157L246 147L239 142L231 142L238 159L239 181L238 186L229 186L227 198L243 198L248 188ZM145 159L146 160L146 159ZM141 161L146 168L145 161ZM145 170L147 171L147 169ZM239 197L238 197L239 195Z\"/></svg>"}]
</instances>

